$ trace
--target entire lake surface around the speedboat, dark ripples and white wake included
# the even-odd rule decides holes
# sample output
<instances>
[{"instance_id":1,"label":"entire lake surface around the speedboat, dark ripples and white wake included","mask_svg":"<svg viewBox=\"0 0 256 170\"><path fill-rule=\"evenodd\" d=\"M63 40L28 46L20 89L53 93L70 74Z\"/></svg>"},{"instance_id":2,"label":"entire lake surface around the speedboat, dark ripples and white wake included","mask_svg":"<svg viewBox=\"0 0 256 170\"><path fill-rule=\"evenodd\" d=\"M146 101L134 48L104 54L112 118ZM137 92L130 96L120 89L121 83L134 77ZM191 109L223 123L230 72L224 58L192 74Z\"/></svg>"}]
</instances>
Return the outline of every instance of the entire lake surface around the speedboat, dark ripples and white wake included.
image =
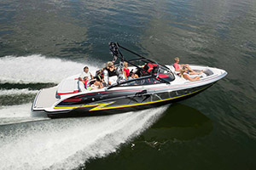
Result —
<instances>
[{"instance_id":1,"label":"entire lake surface around the speedboat, dark ripples and white wake included","mask_svg":"<svg viewBox=\"0 0 256 170\"><path fill-rule=\"evenodd\" d=\"M101 68L108 42L229 74L149 111L32 116L40 88ZM255 65L254 0L1 0L0 169L255 169Z\"/></svg>"}]
</instances>

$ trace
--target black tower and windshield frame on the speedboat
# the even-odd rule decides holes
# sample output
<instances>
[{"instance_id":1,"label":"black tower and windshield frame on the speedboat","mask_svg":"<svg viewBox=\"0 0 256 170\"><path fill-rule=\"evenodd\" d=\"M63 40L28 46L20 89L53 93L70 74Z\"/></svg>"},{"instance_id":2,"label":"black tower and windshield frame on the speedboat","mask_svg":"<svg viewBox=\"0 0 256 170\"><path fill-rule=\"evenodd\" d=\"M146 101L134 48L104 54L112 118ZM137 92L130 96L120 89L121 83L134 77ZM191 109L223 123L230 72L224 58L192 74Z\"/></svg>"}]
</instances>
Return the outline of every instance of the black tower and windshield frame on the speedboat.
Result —
<instances>
[{"instance_id":1,"label":"black tower and windshield frame on the speedboat","mask_svg":"<svg viewBox=\"0 0 256 170\"><path fill-rule=\"evenodd\" d=\"M125 51L127 51L127 52L129 52L131 54L136 55L138 58L136 58L136 59L129 59L129 60L125 59L124 55L121 53L119 48L122 48ZM135 66L137 68L137 70L143 71L143 73L146 74L146 75L143 76L143 77L135 78L135 79L125 80L125 81L118 81L117 83L114 83L113 85L110 85L108 87L108 89L109 88L114 88L114 87L117 87L117 86L120 86L120 85L123 85L125 83L135 82L135 81L138 81L138 80L143 80L143 79L148 79L148 78L154 78L156 81L159 81L159 82L162 82L162 83L166 83L166 84L170 84L170 82L172 82L175 79L174 73L166 65L162 65L159 62L154 61L153 59L147 59L147 58L143 57L142 55L137 54L137 53L131 51L130 49L125 48L125 47L119 45L118 42L109 42L109 49L111 51L110 54L112 54L112 56L113 56L113 62L116 62L118 59L121 62L126 61L130 65ZM133 64L132 62L134 62L134 61L143 61L145 63L145 65L146 64L156 64L157 65L156 73L149 72L149 71L145 70L143 67L140 67L138 65ZM172 75L172 81L168 82L164 78L159 77L159 73L161 73L162 71L165 71L169 75Z\"/></svg>"}]
</instances>

